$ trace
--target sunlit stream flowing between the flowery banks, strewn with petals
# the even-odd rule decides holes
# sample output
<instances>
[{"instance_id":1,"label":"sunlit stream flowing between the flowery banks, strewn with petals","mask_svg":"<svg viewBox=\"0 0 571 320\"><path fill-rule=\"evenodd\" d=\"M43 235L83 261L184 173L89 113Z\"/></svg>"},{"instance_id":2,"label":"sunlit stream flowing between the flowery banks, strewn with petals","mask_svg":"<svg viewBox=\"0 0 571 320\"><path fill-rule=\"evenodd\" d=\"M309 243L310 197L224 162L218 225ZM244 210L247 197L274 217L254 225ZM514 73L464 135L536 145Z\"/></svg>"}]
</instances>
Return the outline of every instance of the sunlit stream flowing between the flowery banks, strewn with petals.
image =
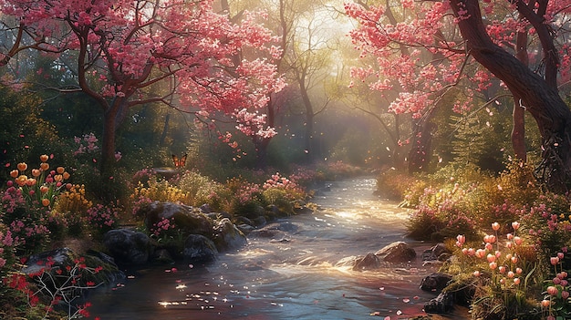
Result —
<instances>
[{"instance_id":1,"label":"sunlit stream flowing between the flowery banks, strewn with petals","mask_svg":"<svg viewBox=\"0 0 571 320\"><path fill-rule=\"evenodd\" d=\"M90 318L106 319L402 319L423 315L435 296L420 291L432 267L416 262L356 272L343 258L405 241L408 213L373 195L375 180L332 182L313 199L321 210L282 223L274 238L207 265L179 263L128 271L124 283L92 294ZM452 318L463 318L452 316Z\"/></svg>"}]
</instances>

